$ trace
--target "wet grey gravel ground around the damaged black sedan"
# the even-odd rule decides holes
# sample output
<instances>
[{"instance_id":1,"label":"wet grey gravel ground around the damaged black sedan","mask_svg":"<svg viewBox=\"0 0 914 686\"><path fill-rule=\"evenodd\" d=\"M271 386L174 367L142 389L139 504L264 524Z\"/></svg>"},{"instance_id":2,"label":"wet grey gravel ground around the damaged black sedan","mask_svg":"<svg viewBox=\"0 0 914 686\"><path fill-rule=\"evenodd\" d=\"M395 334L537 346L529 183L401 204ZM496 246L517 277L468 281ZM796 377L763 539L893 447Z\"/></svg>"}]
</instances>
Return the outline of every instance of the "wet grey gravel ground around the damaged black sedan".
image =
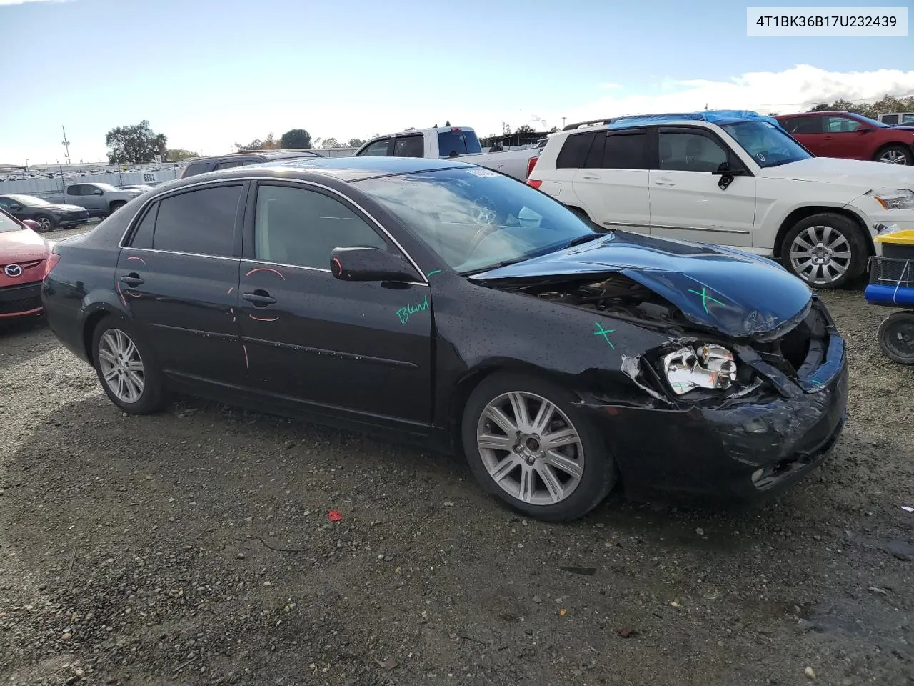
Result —
<instances>
[{"instance_id":1,"label":"wet grey gravel ground around the damaged black sedan","mask_svg":"<svg viewBox=\"0 0 914 686\"><path fill-rule=\"evenodd\" d=\"M0 679L912 684L914 370L880 355L886 312L824 300L853 381L814 477L564 526L455 458L188 399L126 416L40 319L6 325Z\"/></svg>"}]
</instances>

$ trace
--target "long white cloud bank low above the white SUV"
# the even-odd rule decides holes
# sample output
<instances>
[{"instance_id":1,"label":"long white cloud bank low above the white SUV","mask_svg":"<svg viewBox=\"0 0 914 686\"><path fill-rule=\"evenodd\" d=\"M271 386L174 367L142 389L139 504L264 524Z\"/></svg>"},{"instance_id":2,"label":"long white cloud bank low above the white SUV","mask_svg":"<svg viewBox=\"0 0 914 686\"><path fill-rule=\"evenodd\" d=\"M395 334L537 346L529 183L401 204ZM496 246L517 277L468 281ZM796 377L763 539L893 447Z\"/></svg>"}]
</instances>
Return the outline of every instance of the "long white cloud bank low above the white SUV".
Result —
<instances>
[{"instance_id":1,"label":"long white cloud bank low above the white SUV","mask_svg":"<svg viewBox=\"0 0 914 686\"><path fill-rule=\"evenodd\" d=\"M602 86L601 86L602 87ZM762 114L808 110L818 102L875 101L914 95L914 70L828 71L801 64L783 71L753 71L730 80L669 80L649 92L607 94L562 112L542 113L549 122L583 122L627 114L753 110Z\"/></svg>"}]
</instances>

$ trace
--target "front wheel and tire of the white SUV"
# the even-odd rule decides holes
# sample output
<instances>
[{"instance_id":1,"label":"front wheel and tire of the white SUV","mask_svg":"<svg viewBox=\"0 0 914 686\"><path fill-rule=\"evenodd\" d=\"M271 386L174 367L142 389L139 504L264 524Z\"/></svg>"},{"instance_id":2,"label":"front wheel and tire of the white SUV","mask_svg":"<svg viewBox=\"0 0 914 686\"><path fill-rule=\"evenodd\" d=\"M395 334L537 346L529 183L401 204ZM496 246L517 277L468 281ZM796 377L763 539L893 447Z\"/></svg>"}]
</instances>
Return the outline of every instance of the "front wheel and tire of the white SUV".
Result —
<instances>
[{"instance_id":1,"label":"front wheel and tire of the white SUV","mask_svg":"<svg viewBox=\"0 0 914 686\"><path fill-rule=\"evenodd\" d=\"M866 270L866 240L854 220L821 212L798 221L781 243L781 263L815 288L841 288Z\"/></svg>"}]
</instances>

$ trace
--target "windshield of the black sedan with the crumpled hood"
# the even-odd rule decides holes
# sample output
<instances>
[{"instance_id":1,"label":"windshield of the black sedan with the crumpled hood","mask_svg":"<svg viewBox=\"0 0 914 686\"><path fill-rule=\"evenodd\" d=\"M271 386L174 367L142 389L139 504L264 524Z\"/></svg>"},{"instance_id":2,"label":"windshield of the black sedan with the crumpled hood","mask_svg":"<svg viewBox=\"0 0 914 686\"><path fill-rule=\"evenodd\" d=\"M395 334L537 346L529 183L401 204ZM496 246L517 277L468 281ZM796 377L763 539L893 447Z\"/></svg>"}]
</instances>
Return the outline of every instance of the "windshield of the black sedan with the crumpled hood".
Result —
<instances>
[{"instance_id":1,"label":"windshield of the black sedan with the crumpled hood","mask_svg":"<svg viewBox=\"0 0 914 686\"><path fill-rule=\"evenodd\" d=\"M369 178L353 186L463 274L606 235L558 201L490 169L439 169Z\"/></svg>"}]
</instances>

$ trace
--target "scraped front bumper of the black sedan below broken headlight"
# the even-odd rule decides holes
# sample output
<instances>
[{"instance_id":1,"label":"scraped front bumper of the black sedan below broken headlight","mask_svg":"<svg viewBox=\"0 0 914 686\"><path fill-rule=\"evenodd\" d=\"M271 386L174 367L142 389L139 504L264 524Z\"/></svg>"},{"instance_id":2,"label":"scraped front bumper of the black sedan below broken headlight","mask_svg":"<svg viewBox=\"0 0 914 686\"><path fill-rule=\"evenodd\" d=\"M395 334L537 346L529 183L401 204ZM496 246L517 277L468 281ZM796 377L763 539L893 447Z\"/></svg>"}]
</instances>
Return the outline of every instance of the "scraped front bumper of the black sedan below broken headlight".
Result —
<instances>
[{"instance_id":1,"label":"scraped front bumper of the black sedan below broken headlight","mask_svg":"<svg viewBox=\"0 0 914 686\"><path fill-rule=\"evenodd\" d=\"M630 497L745 502L789 487L836 444L847 413L843 338L831 335L823 364L806 381L784 381L780 394L716 409L583 407L608 437Z\"/></svg>"}]
</instances>

